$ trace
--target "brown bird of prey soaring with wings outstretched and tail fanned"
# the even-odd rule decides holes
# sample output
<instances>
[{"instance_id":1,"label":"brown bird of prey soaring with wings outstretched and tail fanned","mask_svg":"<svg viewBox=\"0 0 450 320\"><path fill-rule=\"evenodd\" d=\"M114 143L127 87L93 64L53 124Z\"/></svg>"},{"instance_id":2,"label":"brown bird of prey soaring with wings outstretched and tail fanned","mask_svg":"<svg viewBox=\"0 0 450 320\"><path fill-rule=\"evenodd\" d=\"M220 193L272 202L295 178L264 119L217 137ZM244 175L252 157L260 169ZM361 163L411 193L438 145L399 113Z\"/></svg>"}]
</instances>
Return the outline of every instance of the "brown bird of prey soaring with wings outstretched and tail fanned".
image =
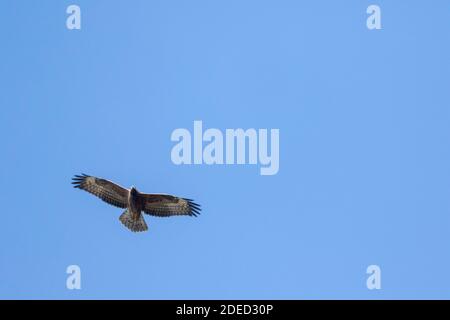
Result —
<instances>
[{"instance_id":1,"label":"brown bird of prey soaring with wings outstretched and tail fanned","mask_svg":"<svg viewBox=\"0 0 450 320\"><path fill-rule=\"evenodd\" d=\"M72 178L74 188L85 190L110 205L124 208L119 220L133 232L148 230L142 211L157 217L194 216L200 214L200 205L192 199L179 198L168 194L140 193L134 186L130 189L106 179L86 174Z\"/></svg>"}]
</instances>

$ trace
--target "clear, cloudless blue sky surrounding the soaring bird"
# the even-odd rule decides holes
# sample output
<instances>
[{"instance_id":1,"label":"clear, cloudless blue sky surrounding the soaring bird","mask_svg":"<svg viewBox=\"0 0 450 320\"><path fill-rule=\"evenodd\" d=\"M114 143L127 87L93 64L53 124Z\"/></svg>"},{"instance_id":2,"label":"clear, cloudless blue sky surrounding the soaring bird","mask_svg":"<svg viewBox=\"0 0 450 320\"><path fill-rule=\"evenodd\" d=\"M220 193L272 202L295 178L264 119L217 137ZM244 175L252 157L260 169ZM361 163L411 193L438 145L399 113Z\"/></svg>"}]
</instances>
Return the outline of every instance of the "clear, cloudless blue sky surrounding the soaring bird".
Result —
<instances>
[{"instance_id":1,"label":"clear, cloudless blue sky surrounding the soaring bird","mask_svg":"<svg viewBox=\"0 0 450 320\"><path fill-rule=\"evenodd\" d=\"M1 1L0 298L450 298L449 29L444 0ZM174 165L195 120L278 128L278 174ZM203 213L131 233L81 172Z\"/></svg>"}]
</instances>

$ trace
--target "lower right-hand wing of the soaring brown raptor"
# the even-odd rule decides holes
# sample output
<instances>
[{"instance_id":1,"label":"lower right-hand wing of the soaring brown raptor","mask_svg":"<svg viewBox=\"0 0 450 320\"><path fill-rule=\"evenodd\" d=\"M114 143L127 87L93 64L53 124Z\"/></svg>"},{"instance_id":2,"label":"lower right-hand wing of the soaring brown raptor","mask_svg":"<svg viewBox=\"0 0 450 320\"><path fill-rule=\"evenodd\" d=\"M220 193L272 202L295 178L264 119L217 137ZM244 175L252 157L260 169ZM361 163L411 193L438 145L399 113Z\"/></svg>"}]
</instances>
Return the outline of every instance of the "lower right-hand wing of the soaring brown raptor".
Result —
<instances>
[{"instance_id":1,"label":"lower right-hand wing of the soaring brown raptor","mask_svg":"<svg viewBox=\"0 0 450 320\"><path fill-rule=\"evenodd\" d=\"M168 194L139 194L142 210L158 217L194 216L200 214L200 205L191 199L174 197Z\"/></svg>"}]
</instances>

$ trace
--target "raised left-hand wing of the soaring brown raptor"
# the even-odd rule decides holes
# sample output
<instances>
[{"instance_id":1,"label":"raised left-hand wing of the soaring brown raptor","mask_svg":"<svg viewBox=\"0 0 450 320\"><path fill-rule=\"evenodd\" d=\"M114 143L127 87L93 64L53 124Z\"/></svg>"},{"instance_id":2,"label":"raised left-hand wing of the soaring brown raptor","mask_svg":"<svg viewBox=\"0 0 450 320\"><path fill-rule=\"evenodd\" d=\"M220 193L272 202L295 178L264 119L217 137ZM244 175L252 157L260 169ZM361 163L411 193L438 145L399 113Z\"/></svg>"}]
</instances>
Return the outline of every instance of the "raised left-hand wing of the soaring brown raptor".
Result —
<instances>
[{"instance_id":1,"label":"raised left-hand wing of the soaring brown raptor","mask_svg":"<svg viewBox=\"0 0 450 320\"><path fill-rule=\"evenodd\" d=\"M109 180L88 176L76 175L72 178L74 188L85 190L99 197L106 203L119 208L126 208L128 203L128 189L125 189Z\"/></svg>"}]
</instances>

